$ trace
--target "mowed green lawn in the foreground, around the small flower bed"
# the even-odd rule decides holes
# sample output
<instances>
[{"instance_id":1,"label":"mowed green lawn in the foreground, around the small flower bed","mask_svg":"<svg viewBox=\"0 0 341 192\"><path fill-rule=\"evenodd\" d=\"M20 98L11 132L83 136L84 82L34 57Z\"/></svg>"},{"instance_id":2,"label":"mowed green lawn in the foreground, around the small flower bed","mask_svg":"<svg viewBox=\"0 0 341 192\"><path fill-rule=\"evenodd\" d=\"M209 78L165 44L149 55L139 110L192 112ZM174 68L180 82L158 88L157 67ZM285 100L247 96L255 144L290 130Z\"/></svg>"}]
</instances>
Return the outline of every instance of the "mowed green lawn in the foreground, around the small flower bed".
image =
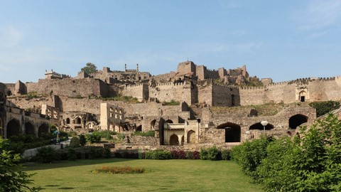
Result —
<instances>
[{"instance_id":1,"label":"mowed green lawn in the foreground, around the small flower bed","mask_svg":"<svg viewBox=\"0 0 341 192\"><path fill-rule=\"evenodd\" d=\"M131 166L144 174L94 174L102 166ZM42 191L261 191L234 161L99 159L24 164Z\"/></svg>"}]
</instances>

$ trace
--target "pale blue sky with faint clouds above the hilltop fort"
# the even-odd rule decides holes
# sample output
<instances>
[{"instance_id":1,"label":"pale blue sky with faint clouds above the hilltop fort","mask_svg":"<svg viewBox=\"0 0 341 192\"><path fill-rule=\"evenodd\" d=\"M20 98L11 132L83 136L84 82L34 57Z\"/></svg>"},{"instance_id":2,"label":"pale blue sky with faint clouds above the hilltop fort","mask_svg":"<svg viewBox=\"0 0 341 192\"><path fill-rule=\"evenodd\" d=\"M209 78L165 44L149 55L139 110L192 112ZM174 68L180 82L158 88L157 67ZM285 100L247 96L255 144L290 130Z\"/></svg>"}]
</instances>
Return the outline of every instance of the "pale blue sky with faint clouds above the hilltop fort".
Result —
<instances>
[{"instance_id":1,"label":"pale blue sky with faint clouds above the hilltop fort","mask_svg":"<svg viewBox=\"0 0 341 192\"><path fill-rule=\"evenodd\" d=\"M0 82L192 60L274 82L341 75L341 1L3 1Z\"/></svg>"}]
</instances>

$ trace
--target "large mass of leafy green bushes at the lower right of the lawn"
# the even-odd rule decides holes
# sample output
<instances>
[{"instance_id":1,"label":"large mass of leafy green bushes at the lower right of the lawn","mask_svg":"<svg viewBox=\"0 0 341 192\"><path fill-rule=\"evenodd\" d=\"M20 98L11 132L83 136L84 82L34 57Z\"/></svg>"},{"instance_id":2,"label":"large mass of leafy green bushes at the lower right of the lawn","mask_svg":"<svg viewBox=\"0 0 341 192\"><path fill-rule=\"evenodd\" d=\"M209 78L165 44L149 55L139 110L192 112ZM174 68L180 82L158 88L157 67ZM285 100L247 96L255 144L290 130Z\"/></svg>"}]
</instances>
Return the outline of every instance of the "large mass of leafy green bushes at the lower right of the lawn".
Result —
<instances>
[{"instance_id":1,"label":"large mass of leafy green bushes at the lower right of the lawn","mask_svg":"<svg viewBox=\"0 0 341 192\"><path fill-rule=\"evenodd\" d=\"M265 137L235 146L232 157L266 191L341 191L341 120L328 114L301 138Z\"/></svg>"}]
</instances>

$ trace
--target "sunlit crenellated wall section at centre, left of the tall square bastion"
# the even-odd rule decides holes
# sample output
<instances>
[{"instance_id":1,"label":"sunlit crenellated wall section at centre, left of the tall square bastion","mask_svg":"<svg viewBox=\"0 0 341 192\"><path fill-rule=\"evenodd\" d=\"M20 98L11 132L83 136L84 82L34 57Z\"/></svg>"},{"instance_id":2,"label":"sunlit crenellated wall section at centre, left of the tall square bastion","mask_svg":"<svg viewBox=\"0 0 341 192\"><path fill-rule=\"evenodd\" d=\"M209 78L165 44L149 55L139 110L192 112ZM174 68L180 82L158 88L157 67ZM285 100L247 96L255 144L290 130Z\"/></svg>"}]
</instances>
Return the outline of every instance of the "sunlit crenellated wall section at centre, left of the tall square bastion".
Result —
<instances>
[{"instance_id":1,"label":"sunlit crenellated wall section at centre, left of the tall square bastion","mask_svg":"<svg viewBox=\"0 0 341 192\"><path fill-rule=\"evenodd\" d=\"M192 91L189 82L161 83L156 87L149 87L149 97L156 98L160 102L171 102L176 100L185 101L192 105Z\"/></svg>"}]
</instances>

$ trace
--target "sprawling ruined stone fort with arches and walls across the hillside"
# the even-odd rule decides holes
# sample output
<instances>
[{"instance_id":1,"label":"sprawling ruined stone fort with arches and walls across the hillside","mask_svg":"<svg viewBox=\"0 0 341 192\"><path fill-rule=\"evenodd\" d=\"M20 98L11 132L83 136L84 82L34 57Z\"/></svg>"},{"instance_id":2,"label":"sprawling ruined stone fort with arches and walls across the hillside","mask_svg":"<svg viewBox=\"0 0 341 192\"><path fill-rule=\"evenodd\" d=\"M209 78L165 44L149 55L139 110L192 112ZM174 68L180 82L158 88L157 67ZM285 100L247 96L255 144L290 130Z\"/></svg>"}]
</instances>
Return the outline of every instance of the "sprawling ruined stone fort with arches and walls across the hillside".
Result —
<instances>
[{"instance_id":1,"label":"sprawling ruined stone fort with arches and walls across the hillside","mask_svg":"<svg viewBox=\"0 0 341 192\"><path fill-rule=\"evenodd\" d=\"M0 83L0 134L5 138L39 136L55 124L65 131L120 132L129 137L121 147L229 147L264 132L292 136L317 118L308 102L341 100L341 77L274 83L251 77L246 65L210 70L185 61L162 75L140 72L138 64L133 70L125 65L124 71L81 71L75 78L45 72L38 82ZM272 108L261 111L256 106ZM150 130L155 137L132 134Z\"/></svg>"}]
</instances>

